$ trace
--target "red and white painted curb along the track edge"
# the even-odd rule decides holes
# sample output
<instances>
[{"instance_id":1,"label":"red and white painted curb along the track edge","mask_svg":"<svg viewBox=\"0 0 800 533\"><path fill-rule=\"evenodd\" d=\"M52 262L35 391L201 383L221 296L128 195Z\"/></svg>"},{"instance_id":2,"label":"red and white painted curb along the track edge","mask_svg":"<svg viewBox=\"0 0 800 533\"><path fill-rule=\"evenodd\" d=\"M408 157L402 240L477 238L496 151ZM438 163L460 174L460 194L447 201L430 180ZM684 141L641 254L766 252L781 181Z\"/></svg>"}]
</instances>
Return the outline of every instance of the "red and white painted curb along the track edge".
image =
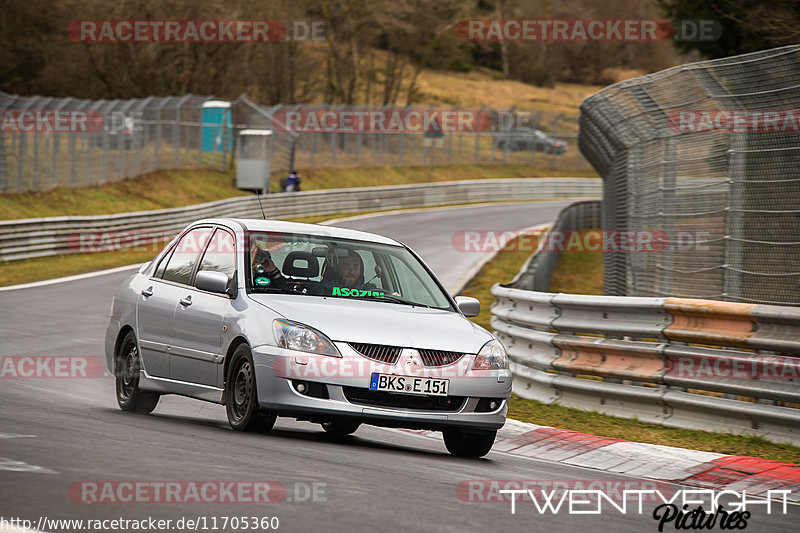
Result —
<instances>
[{"instance_id":1,"label":"red and white painted curb along the track edge","mask_svg":"<svg viewBox=\"0 0 800 533\"><path fill-rule=\"evenodd\" d=\"M440 437L432 431L415 431ZM713 490L765 495L791 490L800 503L800 465L630 442L506 420L492 451Z\"/></svg>"}]
</instances>

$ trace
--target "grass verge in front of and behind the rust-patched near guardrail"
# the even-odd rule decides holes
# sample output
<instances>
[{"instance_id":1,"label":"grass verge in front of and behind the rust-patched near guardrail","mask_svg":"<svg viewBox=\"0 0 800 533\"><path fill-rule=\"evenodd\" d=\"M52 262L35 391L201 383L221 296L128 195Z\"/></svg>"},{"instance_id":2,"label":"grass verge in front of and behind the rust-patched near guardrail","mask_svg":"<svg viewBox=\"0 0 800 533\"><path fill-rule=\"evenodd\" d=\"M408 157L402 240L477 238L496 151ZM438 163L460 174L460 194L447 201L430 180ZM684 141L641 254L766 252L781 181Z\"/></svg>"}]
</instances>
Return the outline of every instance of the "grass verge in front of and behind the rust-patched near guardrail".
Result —
<instances>
[{"instance_id":1,"label":"grass verge in front of and behind the rust-patched near guardrail","mask_svg":"<svg viewBox=\"0 0 800 533\"><path fill-rule=\"evenodd\" d=\"M510 241L504 251L486 263L461 292L461 294L473 296L481 301L481 313L473 318L473 321L490 331L490 308L494 302L494 296L490 292L492 285L497 280L511 280L530 255L530 252L516 251L518 248L518 239ZM602 294L602 254L591 252L562 254L550 290ZM517 396L513 396L511 399L508 416L523 422L603 437L800 463L800 448L790 444L774 444L761 437L665 428L634 419L618 418L560 405L548 405Z\"/></svg>"}]
</instances>

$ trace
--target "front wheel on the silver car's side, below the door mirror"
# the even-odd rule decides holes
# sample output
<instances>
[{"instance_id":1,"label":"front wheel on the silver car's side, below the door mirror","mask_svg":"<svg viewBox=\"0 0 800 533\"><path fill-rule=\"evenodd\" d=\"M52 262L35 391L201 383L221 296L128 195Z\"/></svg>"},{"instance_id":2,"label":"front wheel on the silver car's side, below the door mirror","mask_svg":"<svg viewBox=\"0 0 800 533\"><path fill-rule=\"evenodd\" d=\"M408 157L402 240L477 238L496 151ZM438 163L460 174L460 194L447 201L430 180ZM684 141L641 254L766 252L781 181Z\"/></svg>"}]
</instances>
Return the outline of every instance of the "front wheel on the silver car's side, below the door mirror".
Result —
<instances>
[{"instance_id":1,"label":"front wheel on the silver car's side, below the door mirror","mask_svg":"<svg viewBox=\"0 0 800 533\"><path fill-rule=\"evenodd\" d=\"M225 379L225 412L236 431L266 433L275 425L277 415L258 405L255 366L250 348L240 344L231 356Z\"/></svg>"}]
</instances>

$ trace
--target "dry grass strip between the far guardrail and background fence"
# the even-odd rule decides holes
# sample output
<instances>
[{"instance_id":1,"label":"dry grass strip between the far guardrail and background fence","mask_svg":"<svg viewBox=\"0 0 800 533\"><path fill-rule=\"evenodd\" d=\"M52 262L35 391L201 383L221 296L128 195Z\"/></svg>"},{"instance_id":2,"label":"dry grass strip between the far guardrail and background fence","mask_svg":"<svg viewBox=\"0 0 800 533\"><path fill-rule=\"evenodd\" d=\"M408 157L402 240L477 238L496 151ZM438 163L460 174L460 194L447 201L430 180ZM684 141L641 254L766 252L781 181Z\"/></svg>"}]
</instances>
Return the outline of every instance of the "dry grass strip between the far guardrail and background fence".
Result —
<instances>
[{"instance_id":1,"label":"dry grass strip between the far guardrail and background fence","mask_svg":"<svg viewBox=\"0 0 800 533\"><path fill-rule=\"evenodd\" d=\"M552 171L526 165L299 169L303 190L428 183L457 179L537 176L596 177L594 171ZM211 169L158 171L134 179L77 189L0 195L0 220L65 215L103 215L181 207L249 194L233 172ZM273 177L277 190L279 177Z\"/></svg>"}]
</instances>

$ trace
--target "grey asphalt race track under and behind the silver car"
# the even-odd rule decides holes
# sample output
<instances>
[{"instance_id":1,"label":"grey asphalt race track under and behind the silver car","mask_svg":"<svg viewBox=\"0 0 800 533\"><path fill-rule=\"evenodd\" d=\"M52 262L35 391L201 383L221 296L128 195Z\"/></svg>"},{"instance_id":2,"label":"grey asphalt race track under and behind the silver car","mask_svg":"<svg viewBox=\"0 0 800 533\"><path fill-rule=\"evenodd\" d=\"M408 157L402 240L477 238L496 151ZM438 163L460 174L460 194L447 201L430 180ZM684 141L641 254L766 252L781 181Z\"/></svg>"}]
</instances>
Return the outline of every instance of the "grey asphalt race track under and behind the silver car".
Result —
<instances>
[{"instance_id":1,"label":"grey asphalt race track under and behind the silver car","mask_svg":"<svg viewBox=\"0 0 800 533\"><path fill-rule=\"evenodd\" d=\"M566 204L426 210L339 225L404 241L452 288L482 258L480 253L455 250L455 232L549 222ZM57 274L57 264L53 269ZM102 358L111 297L128 275L0 292L0 356ZM566 509L554 515L520 503L512 514L508 502L468 502L456 492L467 480L520 479L638 481L501 452L481 460L458 459L440 440L366 426L352 437L335 438L317 425L280 418L268 435L242 434L230 430L222 406L173 396L162 398L151 415L130 415L117 407L108 375L0 379L0 518L31 520L36 528L46 517L41 522L44 531L77 530L48 525L52 519L149 517L173 520L164 531L222 531L224 521L226 531L244 531L253 529L251 517L277 517L278 531L302 532L658 530L651 516L653 504L645 504L642 514L604 507L601 515L571 515ZM178 503L140 502L137 497L126 502L125 495L131 493L123 495L117 483L115 502L106 498L104 503L87 503L92 494L98 495L87 492L93 482L178 481L269 481L282 484L273 486L286 487L287 492L274 503L195 503L188 493ZM797 507L787 514L773 510L769 516L757 508L746 531L797 531L798 516ZM242 520L245 517L248 521ZM182 518L199 518L200 523L177 525ZM676 529L669 524L664 531Z\"/></svg>"}]
</instances>

